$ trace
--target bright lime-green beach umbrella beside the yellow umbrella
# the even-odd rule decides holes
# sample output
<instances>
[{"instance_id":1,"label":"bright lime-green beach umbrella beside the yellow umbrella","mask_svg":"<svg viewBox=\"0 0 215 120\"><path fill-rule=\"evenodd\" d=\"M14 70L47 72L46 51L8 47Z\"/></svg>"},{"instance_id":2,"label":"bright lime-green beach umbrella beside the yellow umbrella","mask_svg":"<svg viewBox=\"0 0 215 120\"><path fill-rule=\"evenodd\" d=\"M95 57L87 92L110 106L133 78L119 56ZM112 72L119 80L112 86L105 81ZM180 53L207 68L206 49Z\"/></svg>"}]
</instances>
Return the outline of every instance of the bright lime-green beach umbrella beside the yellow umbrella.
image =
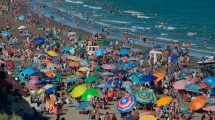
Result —
<instances>
[{"instance_id":1,"label":"bright lime-green beach umbrella beside the yellow umbrella","mask_svg":"<svg viewBox=\"0 0 215 120\"><path fill-rule=\"evenodd\" d=\"M99 93L98 93L98 90L94 89L94 88L90 88L90 89L87 89L84 94L81 96L82 100L84 101L90 101L90 97L93 96L93 97L98 97L99 96Z\"/></svg>"}]
</instances>

